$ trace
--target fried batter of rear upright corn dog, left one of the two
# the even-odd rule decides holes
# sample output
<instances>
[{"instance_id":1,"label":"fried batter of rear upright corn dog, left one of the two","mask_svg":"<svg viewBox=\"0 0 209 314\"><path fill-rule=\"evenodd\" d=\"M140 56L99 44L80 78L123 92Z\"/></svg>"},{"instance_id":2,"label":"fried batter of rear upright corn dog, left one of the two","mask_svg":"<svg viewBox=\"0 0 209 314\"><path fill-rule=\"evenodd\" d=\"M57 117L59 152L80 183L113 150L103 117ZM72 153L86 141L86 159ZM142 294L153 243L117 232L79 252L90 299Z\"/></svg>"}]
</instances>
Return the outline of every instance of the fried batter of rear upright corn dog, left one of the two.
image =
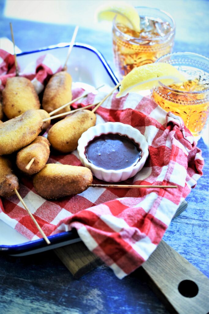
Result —
<instances>
[{"instance_id":1,"label":"fried batter of rear upright corn dog, left one of the two","mask_svg":"<svg viewBox=\"0 0 209 314\"><path fill-rule=\"evenodd\" d=\"M8 78L2 92L3 112L12 119L29 109L40 109L39 97L28 78Z\"/></svg>"}]
</instances>

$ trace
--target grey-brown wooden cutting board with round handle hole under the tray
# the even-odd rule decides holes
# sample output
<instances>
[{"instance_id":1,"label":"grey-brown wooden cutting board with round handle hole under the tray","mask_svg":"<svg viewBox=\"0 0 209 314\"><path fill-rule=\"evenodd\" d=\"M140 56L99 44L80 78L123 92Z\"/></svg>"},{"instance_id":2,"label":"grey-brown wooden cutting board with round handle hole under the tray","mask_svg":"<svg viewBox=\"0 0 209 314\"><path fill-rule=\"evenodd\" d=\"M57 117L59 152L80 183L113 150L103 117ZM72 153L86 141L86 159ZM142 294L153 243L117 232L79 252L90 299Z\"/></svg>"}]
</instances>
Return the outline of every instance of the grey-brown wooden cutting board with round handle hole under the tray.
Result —
<instances>
[{"instance_id":1,"label":"grey-brown wooden cutting board with round handle hole under the tray","mask_svg":"<svg viewBox=\"0 0 209 314\"><path fill-rule=\"evenodd\" d=\"M187 205L184 201L174 217L182 213ZM76 279L103 263L83 242L57 248L54 252ZM165 241L159 243L141 270L171 313L209 312L209 279Z\"/></svg>"}]
</instances>

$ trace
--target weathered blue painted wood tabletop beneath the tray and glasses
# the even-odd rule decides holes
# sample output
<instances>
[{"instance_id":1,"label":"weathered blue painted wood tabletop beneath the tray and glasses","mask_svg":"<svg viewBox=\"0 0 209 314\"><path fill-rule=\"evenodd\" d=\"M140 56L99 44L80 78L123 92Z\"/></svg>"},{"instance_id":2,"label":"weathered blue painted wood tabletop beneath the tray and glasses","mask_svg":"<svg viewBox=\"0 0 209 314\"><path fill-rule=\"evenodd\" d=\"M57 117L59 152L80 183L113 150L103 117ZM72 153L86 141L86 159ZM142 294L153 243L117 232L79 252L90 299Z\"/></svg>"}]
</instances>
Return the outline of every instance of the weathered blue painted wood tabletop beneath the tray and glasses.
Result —
<instances>
[{"instance_id":1,"label":"weathered blue painted wood tabletop beneath the tray and glasses","mask_svg":"<svg viewBox=\"0 0 209 314\"><path fill-rule=\"evenodd\" d=\"M188 3L191 3L190 12L187 10ZM176 41L174 51L191 51L208 56L207 29L204 31L209 15L208 2L185 0L176 1L176 4L176 11L180 10L182 16L186 16L186 23L182 29L184 41ZM1 12L3 5L4 1L1 1ZM197 8L201 18L196 15ZM1 36L11 38L10 21L15 29L15 43L22 51L68 42L74 29L69 25L66 28L65 25L39 24L7 19L2 15ZM198 37L197 45L188 39L191 30L193 36ZM95 46L114 69L110 34L80 29L76 41ZM171 222L164 240L209 277L209 152L202 139L198 147L205 159L204 174L186 199L188 208ZM0 312L3 314L167 313L165 306L143 280L140 269L119 280L102 265L75 280L52 251L27 257L1 256L0 283Z\"/></svg>"}]
</instances>

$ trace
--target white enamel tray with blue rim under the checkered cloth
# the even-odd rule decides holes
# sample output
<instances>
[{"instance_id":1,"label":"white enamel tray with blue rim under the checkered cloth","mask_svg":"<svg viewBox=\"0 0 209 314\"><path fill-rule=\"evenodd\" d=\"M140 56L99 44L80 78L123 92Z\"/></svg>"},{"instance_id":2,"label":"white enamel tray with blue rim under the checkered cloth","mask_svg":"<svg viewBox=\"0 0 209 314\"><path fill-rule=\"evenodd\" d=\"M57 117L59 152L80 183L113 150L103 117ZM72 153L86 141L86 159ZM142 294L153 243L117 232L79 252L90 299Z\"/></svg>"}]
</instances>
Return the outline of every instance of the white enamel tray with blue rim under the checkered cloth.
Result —
<instances>
[{"instance_id":1,"label":"white enamel tray with blue rim under the checkered cloth","mask_svg":"<svg viewBox=\"0 0 209 314\"><path fill-rule=\"evenodd\" d=\"M65 63L69 46L61 43L38 51L23 52L17 55L18 63L23 70L30 62L45 53L50 53L58 58L61 64ZM118 80L104 57L94 47L76 43L69 58L67 71L71 74L73 82L80 82L92 86L107 84L114 87ZM81 85L82 86L82 85ZM49 237L51 245L47 245L43 239L28 241L28 239L16 230L0 220L0 252L10 255L23 256L54 249L80 241L76 231L62 232Z\"/></svg>"}]
</instances>

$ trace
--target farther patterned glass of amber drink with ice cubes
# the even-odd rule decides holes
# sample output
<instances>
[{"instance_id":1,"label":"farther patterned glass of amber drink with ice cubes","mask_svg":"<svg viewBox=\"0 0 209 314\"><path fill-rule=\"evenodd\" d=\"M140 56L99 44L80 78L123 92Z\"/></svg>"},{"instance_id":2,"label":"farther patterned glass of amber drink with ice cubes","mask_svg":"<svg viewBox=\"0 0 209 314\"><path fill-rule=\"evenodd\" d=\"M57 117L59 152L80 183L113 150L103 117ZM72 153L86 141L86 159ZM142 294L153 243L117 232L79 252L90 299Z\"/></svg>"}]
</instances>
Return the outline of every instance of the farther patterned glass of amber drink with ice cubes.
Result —
<instances>
[{"instance_id":1,"label":"farther patterned glass of amber drink with ice cubes","mask_svg":"<svg viewBox=\"0 0 209 314\"><path fill-rule=\"evenodd\" d=\"M113 20L113 53L118 77L122 79L133 68L155 62L172 51L175 22L164 11L138 7L140 32Z\"/></svg>"}]
</instances>

